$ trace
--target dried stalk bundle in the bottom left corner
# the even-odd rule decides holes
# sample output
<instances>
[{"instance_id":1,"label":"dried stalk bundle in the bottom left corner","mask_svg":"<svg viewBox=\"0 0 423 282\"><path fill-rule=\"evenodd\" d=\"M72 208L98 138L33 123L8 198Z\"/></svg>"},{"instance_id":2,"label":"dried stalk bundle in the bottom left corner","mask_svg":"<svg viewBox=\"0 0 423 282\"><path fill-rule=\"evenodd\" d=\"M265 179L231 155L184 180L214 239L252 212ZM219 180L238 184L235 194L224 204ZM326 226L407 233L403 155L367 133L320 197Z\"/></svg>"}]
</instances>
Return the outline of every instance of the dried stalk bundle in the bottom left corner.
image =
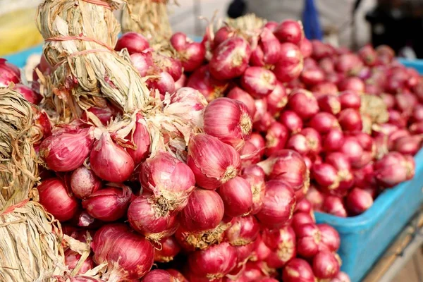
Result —
<instances>
[{"instance_id":1,"label":"dried stalk bundle in the bottom left corner","mask_svg":"<svg viewBox=\"0 0 423 282\"><path fill-rule=\"evenodd\" d=\"M0 214L0 281L44 282L63 275L61 236L60 223L37 202Z\"/></svg>"}]
</instances>

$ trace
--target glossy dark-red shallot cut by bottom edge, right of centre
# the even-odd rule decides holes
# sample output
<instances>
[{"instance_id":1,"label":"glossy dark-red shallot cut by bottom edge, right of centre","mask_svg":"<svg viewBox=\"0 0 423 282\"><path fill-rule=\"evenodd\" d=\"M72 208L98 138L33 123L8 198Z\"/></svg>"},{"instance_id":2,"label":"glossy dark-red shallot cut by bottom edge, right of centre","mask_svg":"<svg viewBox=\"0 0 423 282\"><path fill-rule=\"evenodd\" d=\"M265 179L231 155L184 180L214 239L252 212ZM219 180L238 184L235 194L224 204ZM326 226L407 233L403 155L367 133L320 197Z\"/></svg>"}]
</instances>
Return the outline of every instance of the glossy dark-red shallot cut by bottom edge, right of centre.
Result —
<instances>
[{"instance_id":1,"label":"glossy dark-red shallot cut by bottom edge, right of centre","mask_svg":"<svg viewBox=\"0 0 423 282\"><path fill-rule=\"evenodd\" d=\"M304 259L291 259L282 271L283 282L314 282L312 267Z\"/></svg>"}]
</instances>

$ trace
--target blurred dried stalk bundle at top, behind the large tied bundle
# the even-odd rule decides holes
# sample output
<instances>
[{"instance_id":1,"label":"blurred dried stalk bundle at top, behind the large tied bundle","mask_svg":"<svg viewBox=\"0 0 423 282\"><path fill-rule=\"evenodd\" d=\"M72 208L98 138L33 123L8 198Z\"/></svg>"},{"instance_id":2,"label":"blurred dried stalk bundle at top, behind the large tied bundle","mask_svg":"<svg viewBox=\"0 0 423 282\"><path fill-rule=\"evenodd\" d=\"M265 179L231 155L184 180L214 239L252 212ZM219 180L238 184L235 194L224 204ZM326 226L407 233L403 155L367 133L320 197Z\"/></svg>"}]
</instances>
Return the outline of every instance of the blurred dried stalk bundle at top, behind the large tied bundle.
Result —
<instances>
[{"instance_id":1,"label":"blurred dried stalk bundle at top, behind the large tied bundle","mask_svg":"<svg viewBox=\"0 0 423 282\"><path fill-rule=\"evenodd\" d=\"M138 32L150 42L160 42L172 35L166 4L168 1L128 0L122 12L122 32Z\"/></svg>"}]
</instances>

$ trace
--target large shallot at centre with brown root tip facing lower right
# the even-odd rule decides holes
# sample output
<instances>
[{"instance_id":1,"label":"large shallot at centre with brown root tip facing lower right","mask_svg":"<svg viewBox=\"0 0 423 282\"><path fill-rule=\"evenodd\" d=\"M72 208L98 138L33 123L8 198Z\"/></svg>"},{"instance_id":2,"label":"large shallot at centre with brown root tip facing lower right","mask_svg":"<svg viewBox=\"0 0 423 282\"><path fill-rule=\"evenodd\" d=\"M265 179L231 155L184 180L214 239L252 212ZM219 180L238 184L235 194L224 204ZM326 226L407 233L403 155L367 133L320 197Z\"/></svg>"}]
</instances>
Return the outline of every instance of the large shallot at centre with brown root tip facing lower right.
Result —
<instances>
[{"instance_id":1,"label":"large shallot at centre with brown root tip facing lower right","mask_svg":"<svg viewBox=\"0 0 423 282\"><path fill-rule=\"evenodd\" d=\"M216 137L201 133L190 138L187 164L197 185L216 189L238 175L240 155Z\"/></svg>"}]
</instances>

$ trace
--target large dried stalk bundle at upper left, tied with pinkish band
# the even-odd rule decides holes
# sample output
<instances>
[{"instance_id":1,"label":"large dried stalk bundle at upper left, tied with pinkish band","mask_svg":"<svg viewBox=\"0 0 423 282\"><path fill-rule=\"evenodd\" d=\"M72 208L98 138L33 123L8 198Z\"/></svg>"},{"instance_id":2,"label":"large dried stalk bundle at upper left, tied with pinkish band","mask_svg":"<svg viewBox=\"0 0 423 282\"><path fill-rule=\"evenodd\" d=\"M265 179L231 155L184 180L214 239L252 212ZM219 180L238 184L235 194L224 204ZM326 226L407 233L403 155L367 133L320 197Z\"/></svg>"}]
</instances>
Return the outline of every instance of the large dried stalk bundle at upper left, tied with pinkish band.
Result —
<instances>
[{"instance_id":1,"label":"large dried stalk bundle at upper left, tied with pinkish band","mask_svg":"<svg viewBox=\"0 0 423 282\"><path fill-rule=\"evenodd\" d=\"M39 6L43 52L55 66L44 81L49 85L46 103L62 120L80 117L84 109L104 106L106 100L125 112L143 109L149 101L145 80L128 54L113 51L121 27L112 10L122 2L45 0Z\"/></svg>"}]
</instances>

